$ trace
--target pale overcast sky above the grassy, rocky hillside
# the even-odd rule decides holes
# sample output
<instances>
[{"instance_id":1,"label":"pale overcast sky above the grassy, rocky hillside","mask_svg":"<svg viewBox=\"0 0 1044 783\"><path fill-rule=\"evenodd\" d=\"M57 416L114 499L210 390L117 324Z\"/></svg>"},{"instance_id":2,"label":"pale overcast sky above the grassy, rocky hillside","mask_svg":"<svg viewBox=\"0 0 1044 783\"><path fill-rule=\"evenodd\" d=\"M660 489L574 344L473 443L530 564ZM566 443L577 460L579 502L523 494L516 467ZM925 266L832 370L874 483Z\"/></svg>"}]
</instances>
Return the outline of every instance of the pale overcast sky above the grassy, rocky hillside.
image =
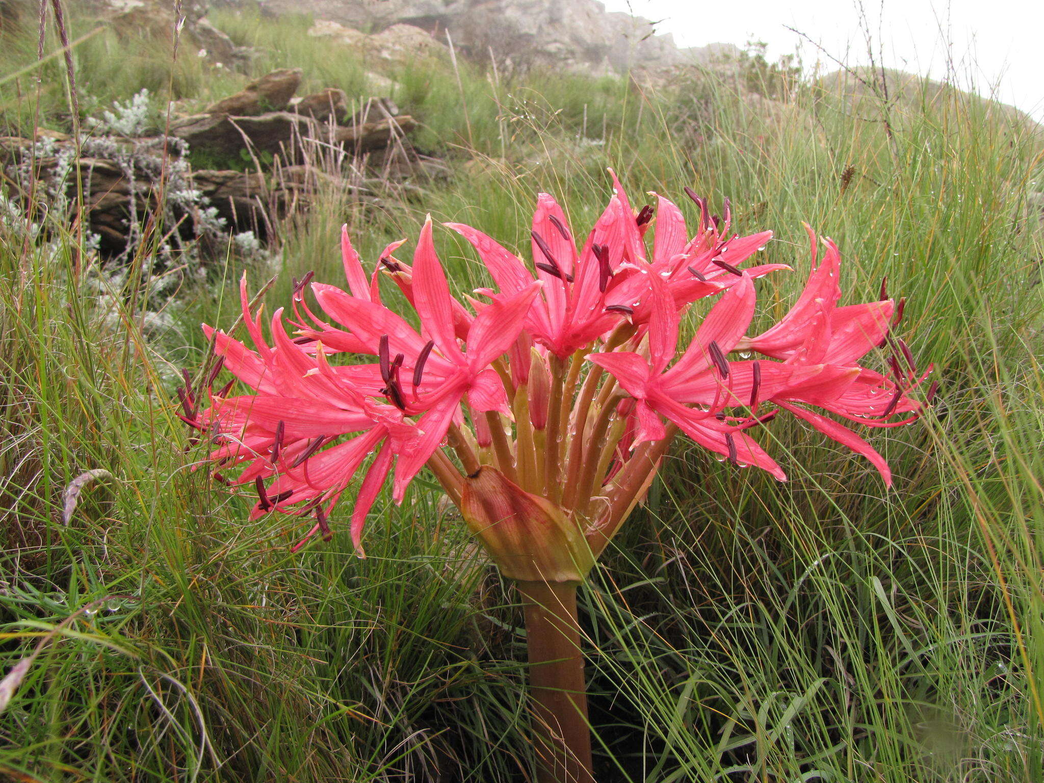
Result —
<instances>
[{"instance_id":1,"label":"pale overcast sky above the grassy, rocky hillside","mask_svg":"<svg viewBox=\"0 0 1044 783\"><path fill-rule=\"evenodd\" d=\"M662 20L658 30L672 33L681 46L715 41L742 46L757 40L768 44L773 56L800 46L806 65L827 62L789 26L838 60L868 61L854 0L602 2L609 10ZM1044 121L1044 1L871 0L862 7L875 39L884 44L885 65L943 78L949 60L958 86L974 79L980 94L996 88L997 97L1005 103Z\"/></svg>"}]
</instances>

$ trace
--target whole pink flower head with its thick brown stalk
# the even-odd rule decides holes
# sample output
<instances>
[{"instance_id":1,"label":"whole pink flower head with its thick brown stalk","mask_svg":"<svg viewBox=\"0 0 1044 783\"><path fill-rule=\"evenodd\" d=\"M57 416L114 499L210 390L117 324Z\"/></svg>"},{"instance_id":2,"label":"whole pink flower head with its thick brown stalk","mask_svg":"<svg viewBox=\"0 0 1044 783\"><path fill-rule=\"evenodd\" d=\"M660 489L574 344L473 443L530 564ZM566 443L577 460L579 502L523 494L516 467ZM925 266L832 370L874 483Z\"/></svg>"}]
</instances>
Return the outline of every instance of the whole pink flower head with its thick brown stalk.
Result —
<instances>
[{"instance_id":1,"label":"whole pink flower head with its thick brown stalk","mask_svg":"<svg viewBox=\"0 0 1044 783\"><path fill-rule=\"evenodd\" d=\"M790 268L751 262L772 233L735 235L728 203L712 216L687 191L696 205L690 236L673 203L658 196L655 210L636 211L615 175L614 185L583 242L540 194L530 263L448 223L495 283L465 302L451 293L430 219L411 264L394 255L395 242L369 272L343 232L347 290L309 285L309 275L294 287L292 316L277 310L267 336L244 279L250 345L205 327L233 380L214 390L218 372L209 373L204 408L190 388L181 392L183 418L214 444L215 475L257 493L255 517L312 519L294 550L333 535L335 506L351 489L348 527L364 556L381 488L390 483L401 502L423 469L434 475L523 597L544 783L592 779L575 589L677 434L782 481L758 433L791 413L891 483L885 460L845 422L911 422L922 403L910 392L928 374L889 335L902 303L883 286L876 302L839 306L840 257L830 240L821 259L809 232L807 284L779 323L752 334L755 280ZM419 329L383 303L393 289L381 277ZM695 312L683 343L681 321ZM885 372L860 364L881 347Z\"/></svg>"}]
</instances>

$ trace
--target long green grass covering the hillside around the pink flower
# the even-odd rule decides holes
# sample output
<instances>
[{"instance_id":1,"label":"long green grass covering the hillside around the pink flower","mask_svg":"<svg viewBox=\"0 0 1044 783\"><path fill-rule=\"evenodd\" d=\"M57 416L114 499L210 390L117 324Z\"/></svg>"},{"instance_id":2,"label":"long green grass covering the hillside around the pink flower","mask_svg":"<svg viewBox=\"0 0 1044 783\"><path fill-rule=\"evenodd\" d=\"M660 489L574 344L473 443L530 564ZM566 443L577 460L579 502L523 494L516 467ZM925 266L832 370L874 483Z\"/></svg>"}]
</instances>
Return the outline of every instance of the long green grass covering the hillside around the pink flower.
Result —
<instances>
[{"instance_id":1,"label":"long green grass covering the hillside around the pink flower","mask_svg":"<svg viewBox=\"0 0 1044 783\"><path fill-rule=\"evenodd\" d=\"M237 42L286 42L259 72L302 66L309 85L364 94L369 65L334 60L307 20L217 22ZM124 63L164 55L103 56L105 35L77 49L99 105L171 84L203 101L247 77L192 81L203 66L183 63L146 81ZM19 45L5 72L33 56ZM61 125L62 71L46 73L42 114ZM460 86L448 67L395 78L454 173L377 212L330 194L283 227L269 307L307 269L337 282L343 220L370 260L426 212L522 246L538 190L590 223L612 165L636 200L689 185L732 196L737 230L775 229L766 260L797 271L762 285L766 318L807 270L801 222L832 236L847 301L886 275L908 298L901 333L942 383L920 424L873 433L891 491L791 423L769 430L786 484L675 450L583 591L598 780L1044 778L1044 286L1026 204L1040 138L956 92L894 106L889 144L810 88L757 109L709 77L698 101L686 86L498 84L464 64ZM34 89L23 77L9 121L34 116ZM597 144L576 138L585 103ZM146 334L141 282L99 289L52 228L54 255L0 236L0 670L98 611L61 626L0 714L0 777L524 780L521 613L433 482L378 503L365 561L338 519L331 544L289 554L302 524L247 522L248 501L191 470L205 450L184 450L171 404L180 369L203 360L198 322L234 321L242 264L187 285ZM437 241L453 285L478 284L474 257ZM271 274L248 271L254 289ZM95 468L114 478L64 524L66 485ZM121 597L92 603L108 596Z\"/></svg>"}]
</instances>

